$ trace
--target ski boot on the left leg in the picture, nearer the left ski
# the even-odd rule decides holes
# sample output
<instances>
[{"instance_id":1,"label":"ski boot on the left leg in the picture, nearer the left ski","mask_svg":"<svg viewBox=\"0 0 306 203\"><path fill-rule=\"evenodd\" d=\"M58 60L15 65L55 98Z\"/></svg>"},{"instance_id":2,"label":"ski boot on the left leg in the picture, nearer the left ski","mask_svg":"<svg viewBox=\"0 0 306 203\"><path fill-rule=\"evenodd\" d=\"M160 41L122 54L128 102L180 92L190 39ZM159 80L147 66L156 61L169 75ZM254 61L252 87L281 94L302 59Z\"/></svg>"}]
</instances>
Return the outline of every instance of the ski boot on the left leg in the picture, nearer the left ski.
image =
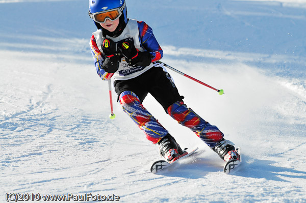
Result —
<instances>
[{"instance_id":1,"label":"ski boot on the left leg in the picture, nearer the left ski","mask_svg":"<svg viewBox=\"0 0 306 203\"><path fill-rule=\"evenodd\" d=\"M176 143L174 137L172 137L169 133L158 142L158 145L160 155L169 163L172 163L173 161L187 154L187 152L181 149L179 144Z\"/></svg>"}]
</instances>

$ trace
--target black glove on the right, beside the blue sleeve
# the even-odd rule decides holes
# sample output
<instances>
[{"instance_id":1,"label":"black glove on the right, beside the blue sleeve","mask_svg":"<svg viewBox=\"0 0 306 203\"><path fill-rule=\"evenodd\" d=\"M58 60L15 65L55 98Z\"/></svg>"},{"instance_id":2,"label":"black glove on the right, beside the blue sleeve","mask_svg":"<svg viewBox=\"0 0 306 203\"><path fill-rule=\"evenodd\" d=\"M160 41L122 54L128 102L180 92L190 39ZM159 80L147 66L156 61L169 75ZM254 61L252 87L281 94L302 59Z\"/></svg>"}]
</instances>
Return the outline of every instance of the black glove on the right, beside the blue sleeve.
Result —
<instances>
[{"instance_id":1,"label":"black glove on the right, beside the blue sleeve","mask_svg":"<svg viewBox=\"0 0 306 203\"><path fill-rule=\"evenodd\" d=\"M148 66L151 63L151 54L148 51L138 51L131 38L122 42L121 51L129 65Z\"/></svg>"}]
</instances>

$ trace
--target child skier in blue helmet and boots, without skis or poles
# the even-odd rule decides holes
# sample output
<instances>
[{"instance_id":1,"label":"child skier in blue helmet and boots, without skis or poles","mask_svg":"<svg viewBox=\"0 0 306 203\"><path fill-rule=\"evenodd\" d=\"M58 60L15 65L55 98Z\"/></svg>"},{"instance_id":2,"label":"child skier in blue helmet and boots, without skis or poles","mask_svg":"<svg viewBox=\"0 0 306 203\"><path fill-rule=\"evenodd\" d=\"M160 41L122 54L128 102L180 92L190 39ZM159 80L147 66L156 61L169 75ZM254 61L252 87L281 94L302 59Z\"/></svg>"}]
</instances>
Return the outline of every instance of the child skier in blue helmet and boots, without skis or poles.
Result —
<instances>
[{"instance_id":1,"label":"child skier in blue helmet and boots, without skis or poles","mask_svg":"<svg viewBox=\"0 0 306 203\"><path fill-rule=\"evenodd\" d=\"M89 0L89 16L97 27L90 39L97 74L103 80L114 77L120 105L146 138L158 144L162 157L171 163L184 152L143 107L148 93L170 117L192 130L224 161L239 159L234 144L224 139L216 126L187 108L170 75L157 63L163 51L151 27L143 21L127 18L124 0Z\"/></svg>"}]
</instances>

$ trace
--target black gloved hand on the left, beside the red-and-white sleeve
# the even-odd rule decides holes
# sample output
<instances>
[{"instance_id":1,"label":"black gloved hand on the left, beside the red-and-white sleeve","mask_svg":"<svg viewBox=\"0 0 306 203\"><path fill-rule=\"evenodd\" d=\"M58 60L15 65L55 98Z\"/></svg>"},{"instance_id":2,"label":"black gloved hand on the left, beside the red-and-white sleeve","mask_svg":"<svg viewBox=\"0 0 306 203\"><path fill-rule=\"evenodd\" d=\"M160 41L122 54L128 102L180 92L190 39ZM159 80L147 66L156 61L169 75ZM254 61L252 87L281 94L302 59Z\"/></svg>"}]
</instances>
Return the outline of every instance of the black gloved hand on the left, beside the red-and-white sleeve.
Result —
<instances>
[{"instance_id":1,"label":"black gloved hand on the left, beside the red-and-white sleeve","mask_svg":"<svg viewBox=\"0 0 306 203\"><path fill-rule=\"evenodd\" d=\"M121 60L121 52L118 50L117 44L113 40L105 38L101 49L106 55L102 68L108 73L116 72L119 68L119 60Z\"/></svg>"}]
</instances>

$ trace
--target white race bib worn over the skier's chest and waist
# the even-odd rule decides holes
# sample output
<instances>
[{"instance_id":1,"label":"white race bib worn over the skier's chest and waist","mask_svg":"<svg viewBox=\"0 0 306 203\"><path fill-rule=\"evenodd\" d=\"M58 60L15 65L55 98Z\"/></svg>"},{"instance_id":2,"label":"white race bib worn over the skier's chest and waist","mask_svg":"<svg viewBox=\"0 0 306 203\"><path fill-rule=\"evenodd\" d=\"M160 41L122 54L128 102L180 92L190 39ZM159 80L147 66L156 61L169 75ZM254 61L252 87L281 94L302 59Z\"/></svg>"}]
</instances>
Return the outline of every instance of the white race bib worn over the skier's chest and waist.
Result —
<instances>
[{"instance_id":1,"label":"white race bib worn over the skier's chest and waist","mask_svg":"<svg viewBox=\"0 0 306 203\"><path fill-rule=\"evenodd\" d=\"M96 32L92 33L95 40L96 44L101 52L101 45L103 40L105 39L103 37L103 32L101 30L97 30ZM139 51L145 51L145 49L141 46L140 38L139 38L139 30L138 30L138 24L136 19L129 19L127 22L123 32L121 35L118 37L110 37L106 36L107 38L113 40L114 42L119 42L122 40L125 40L126 38L133 38L134 40L134 45ZM151 63L149 66L129 66L128 63L126 63L125 58L121 58L121 62L119 64L119 69L118 71L114 74L115 79L120 79L120 80L127 80L127 79L132 79L134 77L137 77L141 75L143 72L149 70L152 68L154 65Z\"/></svg>"}]
</instances>

